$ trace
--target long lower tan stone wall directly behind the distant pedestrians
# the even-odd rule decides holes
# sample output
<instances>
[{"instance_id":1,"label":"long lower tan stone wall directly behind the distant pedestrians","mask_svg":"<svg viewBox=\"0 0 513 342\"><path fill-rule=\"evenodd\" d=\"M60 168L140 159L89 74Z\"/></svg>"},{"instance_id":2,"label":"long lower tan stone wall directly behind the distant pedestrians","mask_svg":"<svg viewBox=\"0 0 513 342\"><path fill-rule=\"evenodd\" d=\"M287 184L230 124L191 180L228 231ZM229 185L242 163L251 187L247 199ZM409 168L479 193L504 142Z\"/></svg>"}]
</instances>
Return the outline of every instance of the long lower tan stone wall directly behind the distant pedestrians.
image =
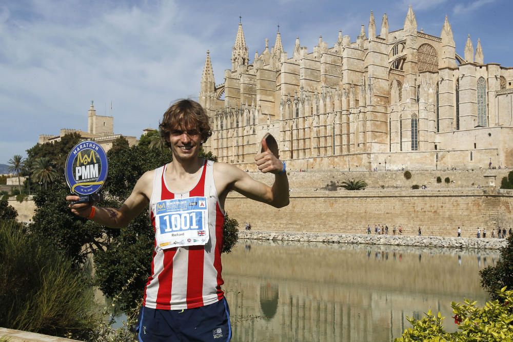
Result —
<instances>
[{"instance_id":1,"label":"long lower tan stone wall directly behind the distant pedestrians","mask_svg":"<svg viewBox=\"0 0 513 342\"><path fill-rule=\"evenodd\" d=\"M273 232L365 233L367 225L402 226L404 235L473 237L477 227L488 236L497 227L513 227L513 195L494 189L365 190L290 192L281 209L239 194L226 200L230 217L241 227Z\"/></svg>"}]
</instances>

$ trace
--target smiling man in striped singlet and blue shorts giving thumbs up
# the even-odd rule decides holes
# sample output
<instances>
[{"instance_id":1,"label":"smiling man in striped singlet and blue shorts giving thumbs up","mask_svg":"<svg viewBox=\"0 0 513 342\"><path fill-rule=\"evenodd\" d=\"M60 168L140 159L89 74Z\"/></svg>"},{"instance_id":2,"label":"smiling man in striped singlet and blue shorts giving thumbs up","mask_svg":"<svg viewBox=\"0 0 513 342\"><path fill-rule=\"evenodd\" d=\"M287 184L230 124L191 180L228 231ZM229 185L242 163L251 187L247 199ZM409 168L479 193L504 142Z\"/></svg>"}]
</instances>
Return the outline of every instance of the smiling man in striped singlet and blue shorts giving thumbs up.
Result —
<instances>
[{"instance_id":1,"label":"smiling man in striped singlet and blue shorts giving thumbs up","mask_svg":"<svg viewBox=\"0 0 513 342\"><path fill-rule=\"evenodd\" d=\"M169 107L159 127L172 151L172 162L143 174L121 208L90 203L70 208L78 216L120 228L149 205L155 248L144 290L140 341L227 341L231 338L229 309L221 290L226 196L234 190L276 208L287 206L285 163L262 140L262 153L255 162L263 173L274 174L269 187L233 165L199 158L202 144L212 133L205 110L189 99ZM198 236L183 237L190 233Z\"/></svg>"}]
</instances>

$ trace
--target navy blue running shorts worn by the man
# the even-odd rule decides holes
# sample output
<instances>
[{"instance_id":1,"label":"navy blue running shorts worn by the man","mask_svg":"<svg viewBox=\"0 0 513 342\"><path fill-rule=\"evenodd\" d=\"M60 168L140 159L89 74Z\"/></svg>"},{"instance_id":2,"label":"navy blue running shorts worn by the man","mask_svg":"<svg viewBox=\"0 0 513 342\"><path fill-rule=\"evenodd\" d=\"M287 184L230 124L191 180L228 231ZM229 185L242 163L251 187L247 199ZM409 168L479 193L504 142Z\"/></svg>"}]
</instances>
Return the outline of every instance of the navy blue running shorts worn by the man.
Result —
<instances>
[{"instance_id":1,"label":"navy blue running shorts worn by the man","mask_svg":"<svg viewBox=\"0 0 513 342\"><path fill-rule=\"evenodd\" d=\"M230 309L226 298L185 310L142 307L136 330L140 342L225 342L231 339Z\"/></svg>"}]
</instances>

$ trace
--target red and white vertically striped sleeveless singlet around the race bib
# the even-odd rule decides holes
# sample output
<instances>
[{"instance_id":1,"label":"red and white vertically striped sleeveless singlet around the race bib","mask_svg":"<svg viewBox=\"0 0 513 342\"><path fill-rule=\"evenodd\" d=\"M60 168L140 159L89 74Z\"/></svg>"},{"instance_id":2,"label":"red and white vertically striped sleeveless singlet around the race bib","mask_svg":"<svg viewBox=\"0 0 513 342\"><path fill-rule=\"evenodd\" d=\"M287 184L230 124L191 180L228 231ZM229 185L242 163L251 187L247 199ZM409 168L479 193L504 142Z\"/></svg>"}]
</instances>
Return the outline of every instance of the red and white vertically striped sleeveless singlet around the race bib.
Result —
<instances>
[{"instance_id":1,"label":"red and white vertically striped sleeveless singlet around the race bib","mask_svg":"<svg viewBox=\"0 0 513 342\"><path fill-rule=\"evenodd\" d=\"M207 160L201 177L192 190L177 194L169 191L164 177L167 165L154 170L150 198L150 218L155 231L155 204L165 199L204 196L208 203L210 239L204 246L162 249L157 246L151 261L151 276L144 290L143 306L153 309L181 310L215 303L223 298L221 250L224 210L214 185L213 164Z\"/></svg>"}]
</instances>

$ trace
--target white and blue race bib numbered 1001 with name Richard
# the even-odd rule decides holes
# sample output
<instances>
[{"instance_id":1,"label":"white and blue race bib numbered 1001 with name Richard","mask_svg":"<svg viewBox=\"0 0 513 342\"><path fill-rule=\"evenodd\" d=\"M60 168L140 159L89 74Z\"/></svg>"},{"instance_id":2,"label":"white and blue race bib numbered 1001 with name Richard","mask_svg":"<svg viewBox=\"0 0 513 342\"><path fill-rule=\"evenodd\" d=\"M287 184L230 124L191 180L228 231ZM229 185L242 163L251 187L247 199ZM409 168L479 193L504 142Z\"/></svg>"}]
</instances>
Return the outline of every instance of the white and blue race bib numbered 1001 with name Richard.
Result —
<instances>
[{"instance_id":1,"label":"white and blue race bib numbered 1001 with name Richard","mask_svg":"<svg viewBox=\"0 0 513 342\"><path fill-rule=\"evenodd\" d=\"M155 204L155 235L162 249L205 245L209 239L206 197L161 200Z\"/></svg>"}]
</instances>

